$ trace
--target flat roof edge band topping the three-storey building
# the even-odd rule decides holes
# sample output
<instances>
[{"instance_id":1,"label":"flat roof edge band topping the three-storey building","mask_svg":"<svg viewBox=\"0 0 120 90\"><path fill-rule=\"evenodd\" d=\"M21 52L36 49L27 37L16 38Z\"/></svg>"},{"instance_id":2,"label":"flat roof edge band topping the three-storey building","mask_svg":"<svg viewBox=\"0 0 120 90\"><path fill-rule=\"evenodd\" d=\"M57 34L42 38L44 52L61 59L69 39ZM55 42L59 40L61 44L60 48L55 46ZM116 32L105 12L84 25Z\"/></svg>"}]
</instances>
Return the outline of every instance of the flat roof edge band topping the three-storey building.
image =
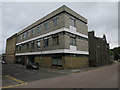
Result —
<instances>
[{"instance_id":1,"label":"flat roof edge band topping the three-storey building","mask_svg":"<svg viewBox=\"0 0 120 90\"><path fill-rule=\"evenodd\" d=\"M17 35L20 35L20 34L24 33L25 31L35 27L36 25L48 20L51 17L54 17L55 15L57 15L57 14L63 12L63 11L73 15L74 17L80 19L81 21L83 21L83 22L85 22L87 24L87 19L86 18L82 17L81 15L76 13L75 11L73 11L70 8L68 8L67 6L63 5L62 7L56 9L55 11L49 13L48 15L44 16L43 18L39 19L38 21L34 22L33 24L29 25L25 29L21 30L20 32L17 33Z\"/></svg>"}]
</instances>

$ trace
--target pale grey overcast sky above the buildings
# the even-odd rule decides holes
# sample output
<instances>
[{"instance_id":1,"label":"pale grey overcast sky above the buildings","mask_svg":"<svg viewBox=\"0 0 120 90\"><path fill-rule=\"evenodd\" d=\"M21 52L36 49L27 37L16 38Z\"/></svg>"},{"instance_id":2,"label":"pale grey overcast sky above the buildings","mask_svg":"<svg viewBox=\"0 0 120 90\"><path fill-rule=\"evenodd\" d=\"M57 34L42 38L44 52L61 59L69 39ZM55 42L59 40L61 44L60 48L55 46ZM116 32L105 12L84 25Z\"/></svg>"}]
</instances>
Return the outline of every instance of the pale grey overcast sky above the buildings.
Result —
<instances>
[{"instance_id":1,"label":"pale grey overcast sky above the buildings","mask_svg":"<svg viewBox=\"0 0 120 90\"><path fill-rule=\"evenodd\" d=\"M2 49L6 39L21 31L62 5L66 5L88 20L88 31L94 30L97 37L106 34L110 48L118 46L117 2L4 2L2 3Z\"/></svg>"}]
</instances>

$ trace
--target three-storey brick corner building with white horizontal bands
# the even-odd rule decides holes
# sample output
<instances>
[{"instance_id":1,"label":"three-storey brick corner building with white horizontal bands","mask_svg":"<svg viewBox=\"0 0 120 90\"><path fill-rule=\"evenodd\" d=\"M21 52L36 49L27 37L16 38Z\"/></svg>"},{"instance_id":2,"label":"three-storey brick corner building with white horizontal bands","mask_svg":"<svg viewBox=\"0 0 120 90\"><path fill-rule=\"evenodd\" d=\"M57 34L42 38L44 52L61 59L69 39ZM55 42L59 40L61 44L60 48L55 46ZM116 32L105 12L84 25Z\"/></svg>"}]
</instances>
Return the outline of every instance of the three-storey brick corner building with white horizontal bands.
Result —
<instances>
[{"instance_id":1,"label":"three-storey brick corner building with white horizontal bands","mask_svg":"<svg viewBox=\"0 0 120 90\"><path fill-rule=\"evenodd\" d=\"M89 65L87 19L65 5L18 32L14 43L16 63L62 69Z\"/></svg>"}]
</instances>

